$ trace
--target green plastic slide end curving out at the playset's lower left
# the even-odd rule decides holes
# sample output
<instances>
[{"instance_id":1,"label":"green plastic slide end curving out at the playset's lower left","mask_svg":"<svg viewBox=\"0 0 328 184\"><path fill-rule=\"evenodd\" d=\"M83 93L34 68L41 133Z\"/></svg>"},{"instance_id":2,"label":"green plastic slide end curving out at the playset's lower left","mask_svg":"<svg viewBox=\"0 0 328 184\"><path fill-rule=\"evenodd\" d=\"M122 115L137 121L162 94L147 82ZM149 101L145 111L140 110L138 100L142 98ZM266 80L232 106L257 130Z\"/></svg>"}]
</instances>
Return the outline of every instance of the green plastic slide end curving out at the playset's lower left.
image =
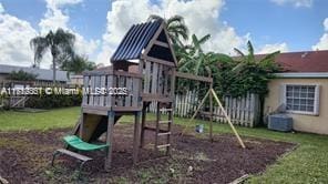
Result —
<instances>
[{"instance_id":1,"label":"green plastic slide end curving out at the playset's lower left","mask_svg":"<svg viewBox=\"0 0 328 184\"><path fill-rule=\"evenodd\" d=\"M64 142L69 144L70 146L80 150L80 151L95 151L104 147L109 147L110 145L107 144L90 144L84 141L82 141L79 136L76 135L68 135L64 136Z\"/></svg>"}]
</instances>

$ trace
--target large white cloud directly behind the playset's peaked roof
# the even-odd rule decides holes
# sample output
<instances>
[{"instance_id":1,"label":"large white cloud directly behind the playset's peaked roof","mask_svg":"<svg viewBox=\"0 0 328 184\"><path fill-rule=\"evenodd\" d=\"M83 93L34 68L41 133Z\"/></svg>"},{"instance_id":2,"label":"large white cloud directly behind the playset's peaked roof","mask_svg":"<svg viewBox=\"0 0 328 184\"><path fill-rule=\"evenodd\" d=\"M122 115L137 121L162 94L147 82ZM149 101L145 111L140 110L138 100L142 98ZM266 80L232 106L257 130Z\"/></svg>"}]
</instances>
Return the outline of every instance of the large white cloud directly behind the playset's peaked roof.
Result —
<instances>
[{"instance_id":1,"label":"large white cloud directly behind the playset's peaked roof","mask_svg":"<svg viewBox=\"0 0 328 184\"><path fill-rule=\"evenodd\" d=\"M203 37L207 33L211 40L204 45L206 51L230 53L233 48L239 48L249 39L249 34L238 35L235 29L226 22L219 21L223 10L223 0L161 0L152 4L150 0L121 0L112 2L112 10L107 12L107 28L103 34L102 51L98 57L99 62L109 63L121 39L133 23L144 22L150 14L170 18L180 14L191 33Z\"/></svg>"}]
</instances>

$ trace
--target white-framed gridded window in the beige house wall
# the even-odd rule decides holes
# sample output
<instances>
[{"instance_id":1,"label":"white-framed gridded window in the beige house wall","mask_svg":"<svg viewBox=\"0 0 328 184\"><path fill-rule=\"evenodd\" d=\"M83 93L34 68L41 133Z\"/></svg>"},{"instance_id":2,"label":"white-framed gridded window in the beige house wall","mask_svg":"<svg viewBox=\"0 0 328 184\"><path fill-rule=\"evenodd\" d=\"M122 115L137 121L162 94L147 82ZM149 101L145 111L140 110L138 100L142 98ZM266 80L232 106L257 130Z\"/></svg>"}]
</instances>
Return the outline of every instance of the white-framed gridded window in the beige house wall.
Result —
<instances>
[{"instance_id":1,"label":"white-framed gridded window in the beige house wall","mask_svg":"<svg viewBox=\"0 0 328 184\"><path fill-rule=\"evenodd\" d=\"M285 90L287 112L318 114L318 85L287 84Z\"/></svg>"}]
</instances>

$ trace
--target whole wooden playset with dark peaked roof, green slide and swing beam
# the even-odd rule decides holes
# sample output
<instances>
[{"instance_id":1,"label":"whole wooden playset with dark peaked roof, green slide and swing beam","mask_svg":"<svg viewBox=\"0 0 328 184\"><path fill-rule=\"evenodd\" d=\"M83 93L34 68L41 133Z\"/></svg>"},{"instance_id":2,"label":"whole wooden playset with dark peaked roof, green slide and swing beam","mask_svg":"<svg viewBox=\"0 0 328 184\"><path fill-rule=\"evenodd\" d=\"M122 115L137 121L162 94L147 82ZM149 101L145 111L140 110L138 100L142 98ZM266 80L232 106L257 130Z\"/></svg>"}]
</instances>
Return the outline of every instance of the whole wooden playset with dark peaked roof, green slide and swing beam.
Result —
<instances>
[{"instance_id":1,"label":"whole wooden playset with dark peaked roof, green slide and swing beam","mask_svg":"<svg viewBox=\"0 0 328 184\"><path fill-rule=\"evenodd\" d=\"M134 164L139 161L140 147L144 146L145 131L155 132L154 149L156 152L160 149L165 149L165 155L170 154L176 78L211 83L211 89L205 98L208 94L214 95L221 104L213 91L212 78L176 71L176 58L163 21L134 24L112 55L111 63L112 70L84 72L84 88L91 89L91 91L83 93L81 117L73 131L76 136L70 137L70 141L65 140L68 145L78 151L105 149L105 170L111 167L113 127L122 115L134 115ZM113 94L94 94L95 88L111 89ZM146 119L146 109L151 102L156 102L156 119L153 121ZM163 119L164 114L161 113L163 110L167 112L166 119ZM227 115L226 117L228 119ZM240 145L245 147L233 124L230 122L229 124ZM99 146L90 144L103 133L106 133L106 144ZM68 150L61 149L55 153L59 152L82 160L83 163L90 160Z\"/></svg>"}]
</instances>

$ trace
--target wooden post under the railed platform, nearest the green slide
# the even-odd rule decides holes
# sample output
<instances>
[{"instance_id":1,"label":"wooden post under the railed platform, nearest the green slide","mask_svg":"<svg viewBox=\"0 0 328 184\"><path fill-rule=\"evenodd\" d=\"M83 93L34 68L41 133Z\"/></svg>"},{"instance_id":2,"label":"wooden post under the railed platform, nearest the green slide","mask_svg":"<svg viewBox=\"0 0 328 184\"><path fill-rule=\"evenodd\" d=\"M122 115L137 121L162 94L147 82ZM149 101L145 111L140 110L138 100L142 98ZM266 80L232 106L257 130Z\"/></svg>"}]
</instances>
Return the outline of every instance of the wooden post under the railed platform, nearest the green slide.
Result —
<instances>
[{"instance_id":1,"label":"wooden post under the railed platform, nearest the green slide","mask_svg":"<svg viewBox=\"0 0 328 184\"><path fill-rule=\"evenodd\" d=\"M107 122L107 133L106 133L106 144L109 144L106 157L105 157L105 171L111 168L112 163L112 149L113 149L113 126L115 123L115 112L109 112L109 122Z\"/></svg>"}]
</instances>

